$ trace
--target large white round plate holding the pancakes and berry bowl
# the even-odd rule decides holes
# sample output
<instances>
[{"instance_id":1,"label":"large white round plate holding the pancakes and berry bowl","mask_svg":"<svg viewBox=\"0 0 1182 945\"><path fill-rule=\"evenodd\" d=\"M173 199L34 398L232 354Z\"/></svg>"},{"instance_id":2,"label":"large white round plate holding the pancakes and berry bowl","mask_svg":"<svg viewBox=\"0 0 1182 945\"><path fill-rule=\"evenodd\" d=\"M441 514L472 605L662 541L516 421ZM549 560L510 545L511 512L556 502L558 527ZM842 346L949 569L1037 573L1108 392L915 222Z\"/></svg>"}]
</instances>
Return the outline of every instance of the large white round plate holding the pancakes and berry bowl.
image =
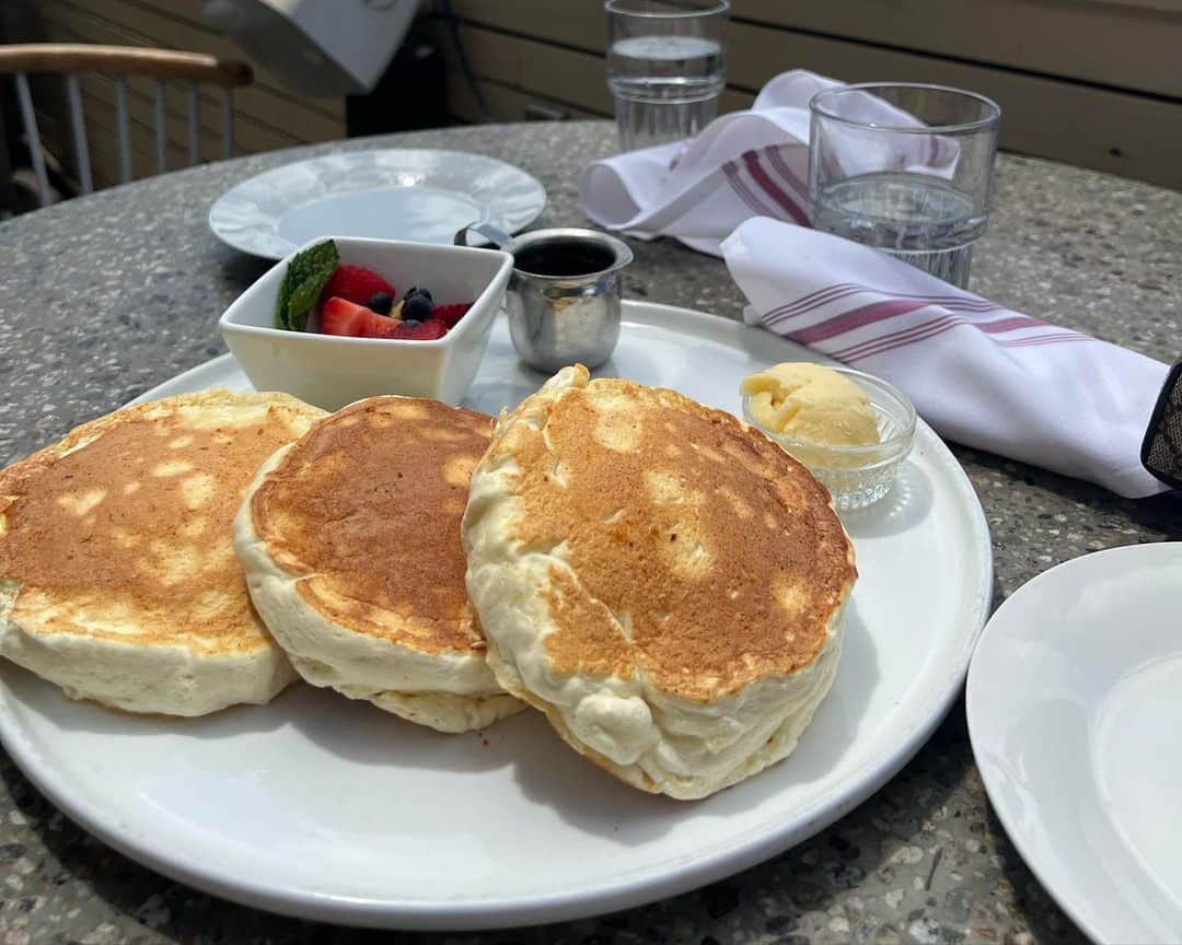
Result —
<instances>
[{"instance_id":1,"label":"large white round plate holding the pancakes and berry bowl","mask_svg":"<svg viewBox=\"0 0 1182 945\"><path fill-rule=\"evenodd\" d=\"M760 328L626 304L599 373L738 411L740 378L810 357ZM543 379L518 364L500 317L468 403L496 412ZM248 390L223 356L144 397L216 384ZM862 576L833 689L790 758L704 801L626 787L537 712L447 736L305 685L262 708L137 718L7 665L0 736L86 829L253 906L403 928L624 908L817 833L895 774L959 695L992 587L989 533L963 470L921 423L896 490L845 522Z\"/></svg>"}]
</instances>

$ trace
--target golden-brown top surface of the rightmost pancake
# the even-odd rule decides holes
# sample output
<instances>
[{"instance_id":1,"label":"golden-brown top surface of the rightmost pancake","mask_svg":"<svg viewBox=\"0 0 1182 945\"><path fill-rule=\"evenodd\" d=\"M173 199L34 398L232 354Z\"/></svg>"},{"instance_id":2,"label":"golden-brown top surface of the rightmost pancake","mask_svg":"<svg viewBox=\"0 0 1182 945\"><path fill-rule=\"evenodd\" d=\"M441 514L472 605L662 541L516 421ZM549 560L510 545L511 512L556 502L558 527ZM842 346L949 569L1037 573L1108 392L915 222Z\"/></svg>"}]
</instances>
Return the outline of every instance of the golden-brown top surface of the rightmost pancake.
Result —
<instances>
[{"instance_id":1,"label":"golden-brown top surface of the rightmost pancake","mask_svg":"<svg viewBox=\"0 0 1182 945\"><path fill-rule=\"evenodd\" d=\"M572 387L491 454L521 471L511 540L553 549L553 669L700 702L812 663L857 572L810 474L729 413L626 380Z\"/></svg>"}]
</instances>

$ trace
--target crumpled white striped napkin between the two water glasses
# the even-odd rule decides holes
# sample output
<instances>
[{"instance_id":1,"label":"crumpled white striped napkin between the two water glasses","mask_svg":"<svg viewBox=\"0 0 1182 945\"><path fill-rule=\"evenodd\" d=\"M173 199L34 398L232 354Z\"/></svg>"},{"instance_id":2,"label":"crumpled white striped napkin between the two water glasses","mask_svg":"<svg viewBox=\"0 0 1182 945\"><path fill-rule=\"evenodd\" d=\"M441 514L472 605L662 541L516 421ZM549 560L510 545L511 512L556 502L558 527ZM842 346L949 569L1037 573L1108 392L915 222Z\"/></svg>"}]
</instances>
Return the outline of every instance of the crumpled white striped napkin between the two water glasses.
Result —
<instances>
[{"instance_id":1,"label":"crumpled white striped napkin between the two water glasses","mask_svg":"<svg viewBox=\"0 0 1182 945\"><path fill-rule=\"evenodd\" d=\"M777 76L748 111L723 115L690 141L662 144L591 164L579 181L583 209L596 223L651 240L674 236L703 253L742 221L769 216L808 224L808 102L842 85L804 70ZM918 124L907 112L865 92L851 115L890 124ZM897 139L891 142L898 148ZM916 163L931 172L955 164L955 142L918 136ZM935 148L929 155L928 149ZM864 150L864 146L863 146ZM857 149L850 149L857 161ZM845 167L847 174L865 168Z\"/></svg>"}]
</instances>

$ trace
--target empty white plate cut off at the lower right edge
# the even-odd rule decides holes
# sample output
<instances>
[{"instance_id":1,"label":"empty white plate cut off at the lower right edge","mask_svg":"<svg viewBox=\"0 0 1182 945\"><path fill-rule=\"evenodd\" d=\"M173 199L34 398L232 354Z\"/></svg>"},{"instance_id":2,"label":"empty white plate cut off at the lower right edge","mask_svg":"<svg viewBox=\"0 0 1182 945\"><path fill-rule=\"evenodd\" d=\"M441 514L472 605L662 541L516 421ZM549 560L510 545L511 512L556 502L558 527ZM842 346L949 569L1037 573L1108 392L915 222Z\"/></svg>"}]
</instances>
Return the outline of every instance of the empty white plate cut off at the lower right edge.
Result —
<instances>
[{"instance_id":1,"label":"empty white plate cut off at the lower right edge","mask_svg":"<svg viewBox=\"0 0 1182 945\"><path fill-rule=\"evenodd\" d=\"M1097 941L1182 933L1182 543L1077 558L1018 588L968 673L998 817Z\"/></svg>"}]
</instances>

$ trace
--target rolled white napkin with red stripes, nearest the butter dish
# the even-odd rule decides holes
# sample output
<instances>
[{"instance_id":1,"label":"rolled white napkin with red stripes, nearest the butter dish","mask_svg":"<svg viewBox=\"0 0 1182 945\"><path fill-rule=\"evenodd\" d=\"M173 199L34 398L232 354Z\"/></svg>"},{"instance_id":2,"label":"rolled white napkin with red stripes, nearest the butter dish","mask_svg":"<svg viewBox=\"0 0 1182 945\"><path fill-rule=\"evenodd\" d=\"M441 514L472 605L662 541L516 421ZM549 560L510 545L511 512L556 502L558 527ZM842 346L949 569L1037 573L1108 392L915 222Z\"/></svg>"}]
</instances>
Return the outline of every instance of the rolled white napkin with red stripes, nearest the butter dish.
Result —
<instances>
[{"instance_id":1,"label":"rolled white napkin with red stripes, nearest the butter dish","mask_svg":"<svg viewBox=\"0 0 1182 945\"><path fill-rule=\"evenodd\" d=\"M777 220L721 250L749 322L885 378L941 436L1130 498L1165 490L1139 462L1161 361Z\"/></svg>"}]
</instances>

